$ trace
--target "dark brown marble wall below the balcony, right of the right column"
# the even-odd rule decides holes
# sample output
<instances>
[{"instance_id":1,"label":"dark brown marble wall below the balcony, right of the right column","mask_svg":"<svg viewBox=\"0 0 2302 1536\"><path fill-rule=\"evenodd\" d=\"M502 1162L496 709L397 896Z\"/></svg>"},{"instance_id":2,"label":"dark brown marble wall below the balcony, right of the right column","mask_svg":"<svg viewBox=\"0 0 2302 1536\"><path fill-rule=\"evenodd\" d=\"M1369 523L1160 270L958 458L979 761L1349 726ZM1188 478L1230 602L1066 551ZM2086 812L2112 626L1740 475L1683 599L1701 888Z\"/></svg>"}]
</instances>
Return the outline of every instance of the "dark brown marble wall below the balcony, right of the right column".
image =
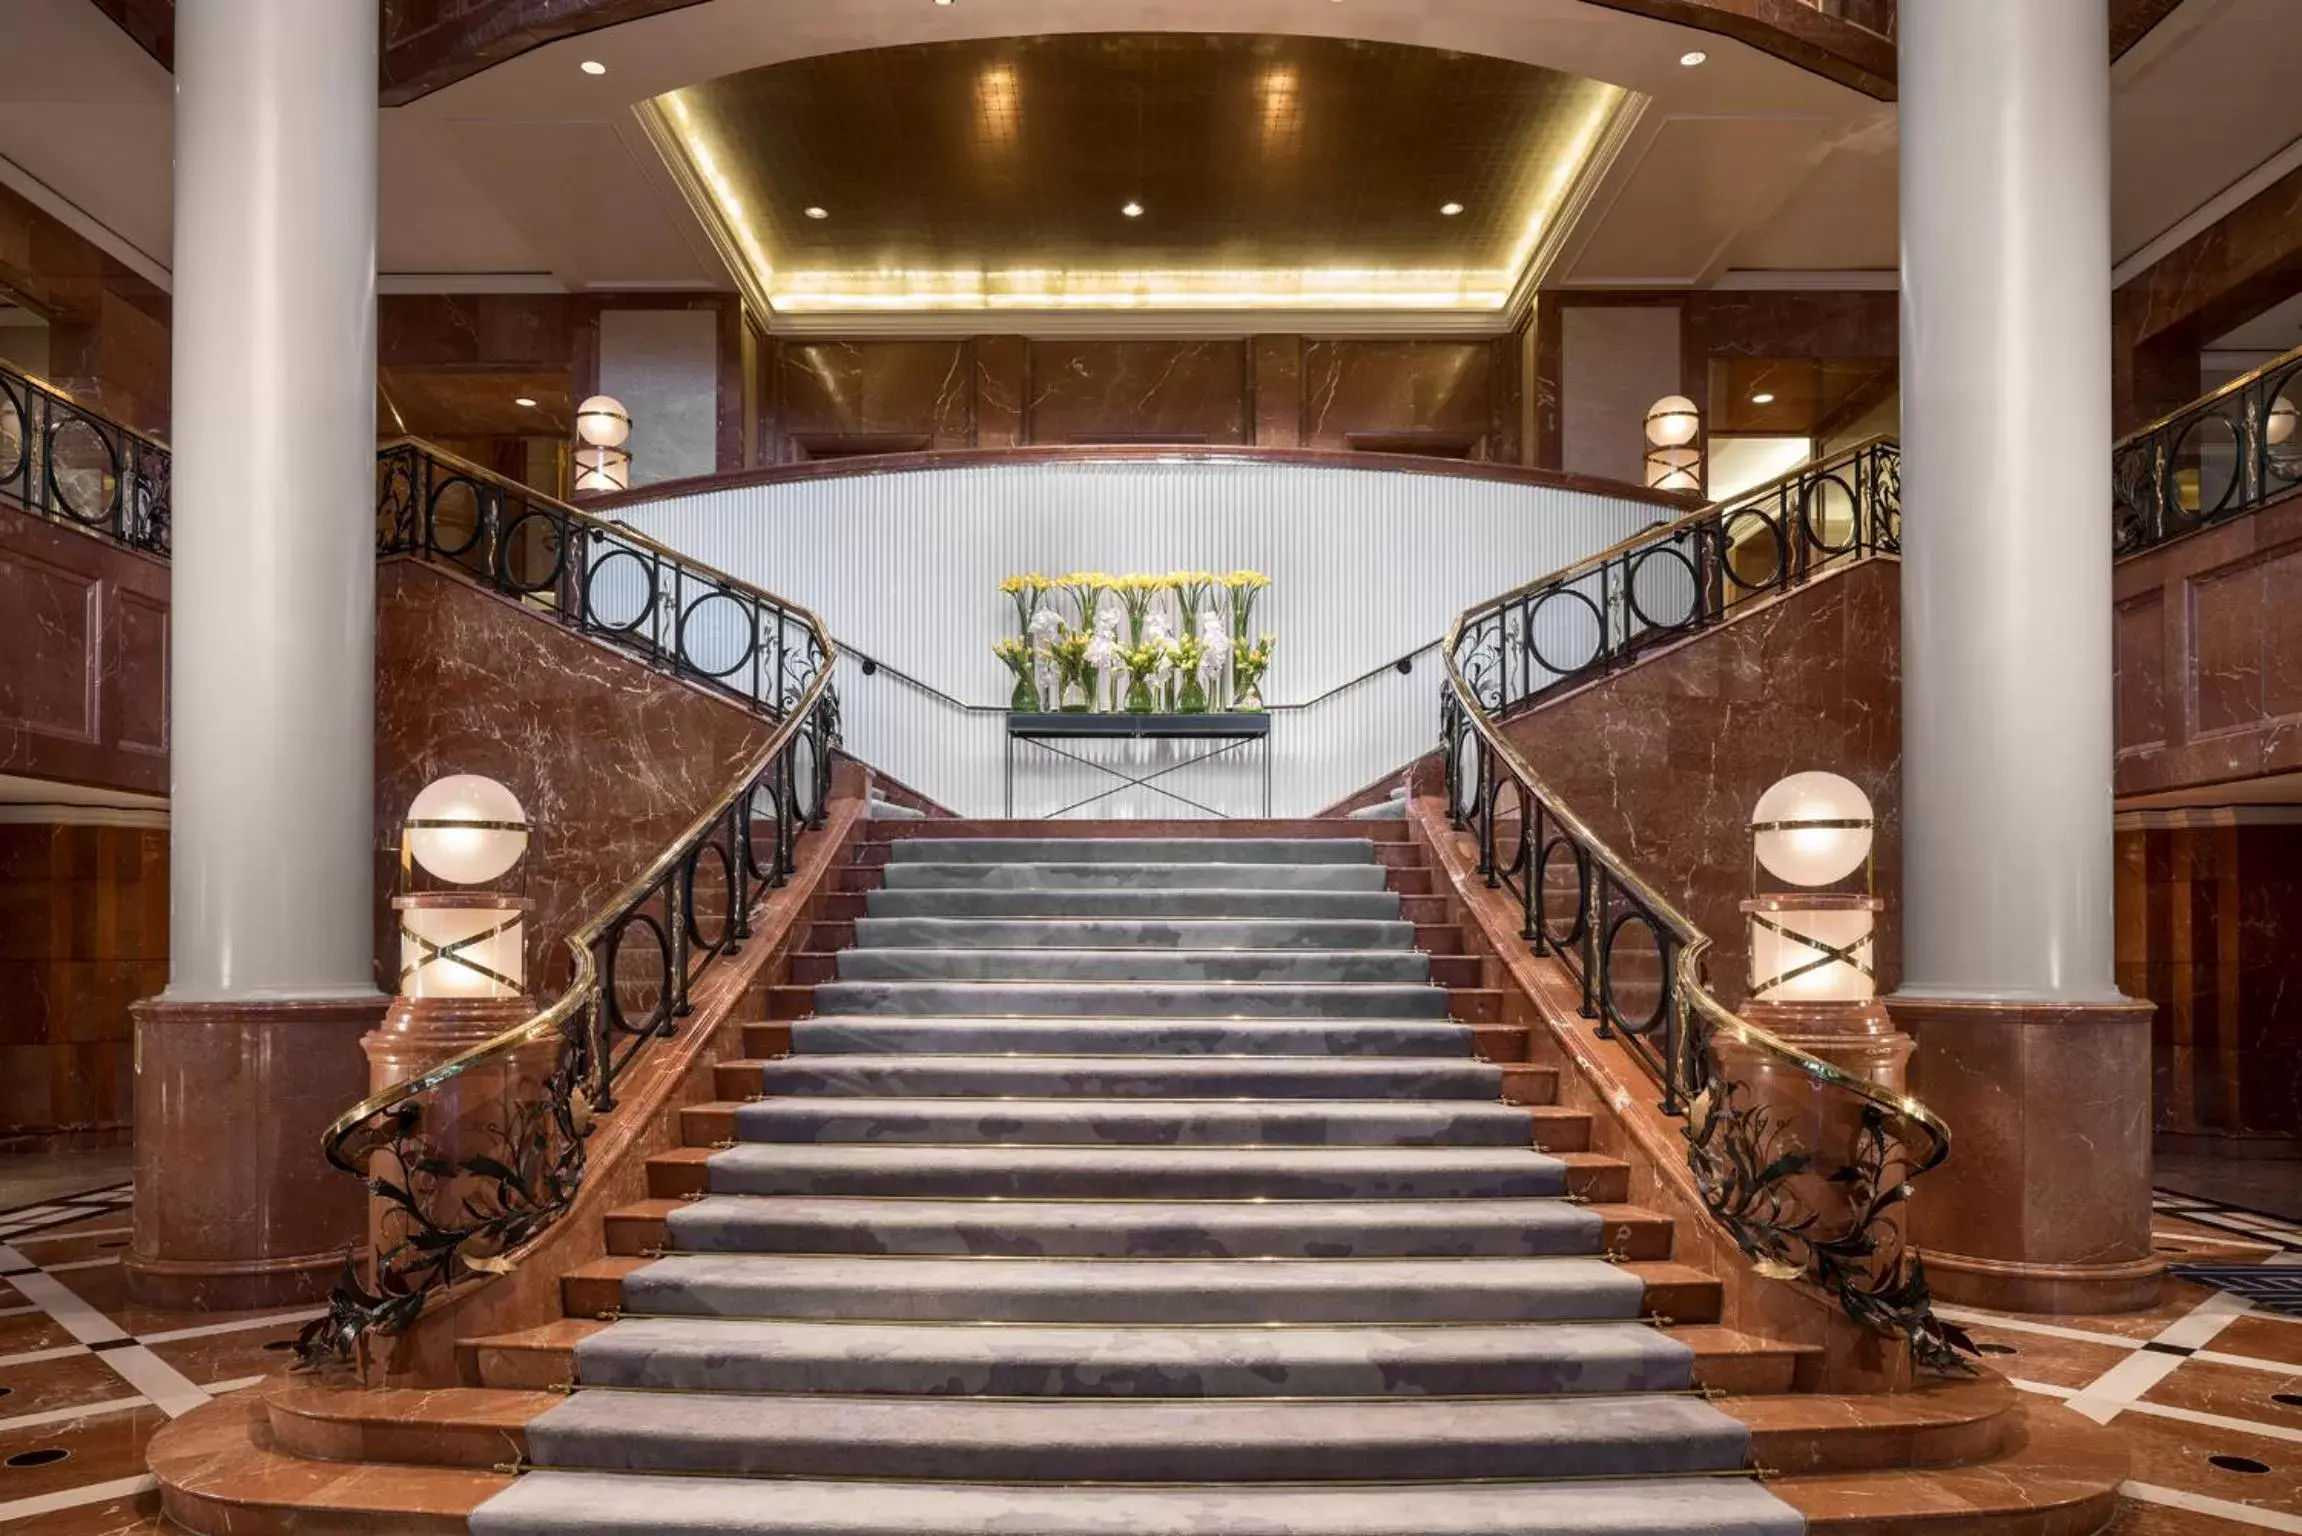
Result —
<instances>
[{"instance_id":1,"label":"dark brown marble wall below the balcony, right of the right column","mask_svg":"<svg viewBox=\"0 0 2302 1536\"><path fill-rule=\"evenodd\" d=\"M2118 990L2157 1004L2171 1151L2302 1156L2302 813L2143 811L2118 829Z\"/></svg>"}]
</instances>

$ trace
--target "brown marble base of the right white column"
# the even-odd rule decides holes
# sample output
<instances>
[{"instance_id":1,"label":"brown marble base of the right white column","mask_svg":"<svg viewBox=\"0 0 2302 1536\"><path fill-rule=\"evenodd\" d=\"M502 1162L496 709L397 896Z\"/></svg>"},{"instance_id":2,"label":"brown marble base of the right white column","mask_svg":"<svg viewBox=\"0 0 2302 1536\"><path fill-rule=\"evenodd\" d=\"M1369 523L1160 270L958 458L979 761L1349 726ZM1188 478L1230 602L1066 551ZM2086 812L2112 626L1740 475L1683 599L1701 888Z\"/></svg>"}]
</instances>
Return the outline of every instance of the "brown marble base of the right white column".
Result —
<instances>
[{"instance_id":1,"label":"brown marble base of the right white column","mask_svg":"<svg viewBox=\"0 0 2302 1536\"><path fill-rule=\"evenodd\" d=\"M1890 997L1911 1089L1950 1161L1911 1202L1936 1299L2010 1313L2134 1313L2150 1250L2148 1002Z\"/></svg>"}]
</instances>

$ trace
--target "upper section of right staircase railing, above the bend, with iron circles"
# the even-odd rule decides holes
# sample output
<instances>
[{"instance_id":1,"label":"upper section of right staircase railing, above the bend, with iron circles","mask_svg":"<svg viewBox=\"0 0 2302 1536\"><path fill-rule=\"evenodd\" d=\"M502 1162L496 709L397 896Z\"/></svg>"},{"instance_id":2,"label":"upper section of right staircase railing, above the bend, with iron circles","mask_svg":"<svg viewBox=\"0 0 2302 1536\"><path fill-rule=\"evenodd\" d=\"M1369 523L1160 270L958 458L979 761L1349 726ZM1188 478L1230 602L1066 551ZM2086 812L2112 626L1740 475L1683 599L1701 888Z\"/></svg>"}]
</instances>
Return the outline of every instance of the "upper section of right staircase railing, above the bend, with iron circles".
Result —
<instances>
[{"instance_id":1,"label":"upper section of right staircase railing, above the bend, with iron circles","mask_svg":"<svg viewBox=\"0 0 2302 1536\"><path fill-rule=\"evenodd\" d=\"M1901 548L1901 454L1874 438L1782 479L1655 523L1464 613L1448 652L1510 714L1715 624L1816 571Z\"/></svg>"}]
</instances>

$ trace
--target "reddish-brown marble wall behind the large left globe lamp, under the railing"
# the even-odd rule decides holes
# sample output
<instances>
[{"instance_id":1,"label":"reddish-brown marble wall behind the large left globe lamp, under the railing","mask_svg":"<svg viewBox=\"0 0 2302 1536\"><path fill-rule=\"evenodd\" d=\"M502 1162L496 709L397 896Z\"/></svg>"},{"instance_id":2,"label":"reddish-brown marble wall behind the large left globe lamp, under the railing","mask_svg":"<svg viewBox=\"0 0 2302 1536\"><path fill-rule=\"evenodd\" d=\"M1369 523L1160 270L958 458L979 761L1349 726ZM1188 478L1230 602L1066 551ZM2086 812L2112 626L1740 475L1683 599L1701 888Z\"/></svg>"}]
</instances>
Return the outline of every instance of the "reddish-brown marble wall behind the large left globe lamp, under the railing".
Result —
<instances>
[{"instance_id":1,"label":"reddish-brown marble wall behind the large left globe lamp, under the railing","mask_svg":"<svg viewBox=\"0 0 2302 1536\"><path fill-rule=\"evenodd\" d=\"M486 774L534 824L523 870L529 990L566 981L564 937L767 744L750 712L414 560L375 573L378 986L398 942L394 834L440 774Z\"/></svg>"}]
</instances>

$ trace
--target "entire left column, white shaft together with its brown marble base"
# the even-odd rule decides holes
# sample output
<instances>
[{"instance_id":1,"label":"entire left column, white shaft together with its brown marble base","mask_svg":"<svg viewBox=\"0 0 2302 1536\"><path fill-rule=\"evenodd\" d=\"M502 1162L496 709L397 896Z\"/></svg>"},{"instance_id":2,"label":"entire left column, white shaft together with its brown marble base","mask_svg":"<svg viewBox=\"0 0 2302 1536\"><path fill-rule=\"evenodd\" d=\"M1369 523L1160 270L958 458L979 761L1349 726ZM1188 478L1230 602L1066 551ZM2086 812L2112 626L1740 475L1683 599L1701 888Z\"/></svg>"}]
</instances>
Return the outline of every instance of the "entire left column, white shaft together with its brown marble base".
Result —
<instances>
[{"instance_id":1,"label":"entire left column, white shaft together with its brown marble base","mask_svg":"<svg viewBox=\"0 0 2302 1536\"><path fill-rule=\"evenodd\" d=\"M378 0L175 7L168 990L136 1011L129 1285L327 1290L322 1126L375 990Z\"/></svg>"}]
</instances>

